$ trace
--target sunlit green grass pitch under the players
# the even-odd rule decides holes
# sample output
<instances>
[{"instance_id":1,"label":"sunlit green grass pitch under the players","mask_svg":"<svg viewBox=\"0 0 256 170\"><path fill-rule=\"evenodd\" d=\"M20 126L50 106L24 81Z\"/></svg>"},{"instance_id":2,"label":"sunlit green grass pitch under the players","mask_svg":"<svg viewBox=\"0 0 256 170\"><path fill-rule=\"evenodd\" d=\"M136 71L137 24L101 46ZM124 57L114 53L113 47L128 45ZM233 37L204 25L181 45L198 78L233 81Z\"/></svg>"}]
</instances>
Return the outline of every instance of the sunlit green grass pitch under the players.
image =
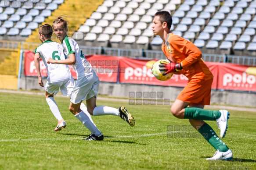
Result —
<instances>
[{"instance_id":1,"label":"sunlit green grass pitch under the players","mask_svg":"<svg viewBox=\"0 0 256 170\"><path fill-rule=\"evenodd\" d=\"M168 125L188 125L171 115L170 106L129 106L97 100L97 105L126 106L136 125L114 116L93 117L104 141L83 141L90 135L69 112L69 98L55 97L67 127L55 132L57 120L44 96L0 93L0 169L209 169L215 150L203 138L167 138ZM224 142L233 150L227 165L256 169L256 113L230 110ZM216 122L208 121L217 134ZM198 132L196 132L198 133ZM146 136L145 134L153 134ZM143 136L144 135L144 136ZM237 160L242 159L241 163ZM212 164L213 163L213 164Z\"/></svg>"}]
</instances>

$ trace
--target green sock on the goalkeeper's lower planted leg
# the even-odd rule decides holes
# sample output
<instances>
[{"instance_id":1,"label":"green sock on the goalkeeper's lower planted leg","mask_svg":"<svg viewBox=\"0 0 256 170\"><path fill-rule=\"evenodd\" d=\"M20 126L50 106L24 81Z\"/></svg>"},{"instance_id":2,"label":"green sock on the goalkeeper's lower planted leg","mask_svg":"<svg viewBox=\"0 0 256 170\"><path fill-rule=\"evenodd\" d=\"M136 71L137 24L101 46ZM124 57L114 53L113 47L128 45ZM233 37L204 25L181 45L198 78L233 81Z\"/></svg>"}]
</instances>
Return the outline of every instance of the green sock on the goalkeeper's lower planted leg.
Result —
<instances>
[{"instance_id":1,"label":"green sock on the goalkeeper's lower planted leg","mask_svg":"<svg viewBox=\"0 0 256 170\"><path fill-rule=\"evenodd\" d=\"M213 146L213 148L216 150L219 149L220 152L227 152L227 145L220 140L209 124L203 124L198 131L206 139L206 141Z\"/></svg>"}]
</instances>

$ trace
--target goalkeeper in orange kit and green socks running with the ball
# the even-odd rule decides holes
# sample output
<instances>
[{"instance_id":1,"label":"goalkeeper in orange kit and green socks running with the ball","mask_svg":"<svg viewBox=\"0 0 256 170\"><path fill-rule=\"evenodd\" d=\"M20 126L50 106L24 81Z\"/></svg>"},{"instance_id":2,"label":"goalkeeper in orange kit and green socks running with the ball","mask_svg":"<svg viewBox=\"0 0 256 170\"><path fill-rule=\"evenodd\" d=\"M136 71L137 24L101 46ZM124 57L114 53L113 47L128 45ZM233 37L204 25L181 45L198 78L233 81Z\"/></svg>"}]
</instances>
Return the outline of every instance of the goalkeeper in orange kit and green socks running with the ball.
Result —
<instances>
[{"instance_id":1,"label":"goalkeeper in orange kit and green socks running with the ball","mask_svg":"<svg viewBox=\"0 0 256 170\"><path fill-rule=\"evenodd\" d=\"M160 62L160 70L165 74L184 74L188 78L186 87L180 92L171 107L171 113L179 119L189 119L190 124L203 135L209 144L217 151L212 158L207 159L231 159L233 153L227 145L203 120L217 122L220 129L220 137L223 138L227 130L227 110L204 110L205 105L210 104L211 85L213 74L201 59L201 51L190 41L174 35L169 30L172 25L172 17L167 11L155 13L153 20L153 32L163 40L162 51L168 62ZM189 106L189 107L187 107Z\"/></svg>"}]
</instances>

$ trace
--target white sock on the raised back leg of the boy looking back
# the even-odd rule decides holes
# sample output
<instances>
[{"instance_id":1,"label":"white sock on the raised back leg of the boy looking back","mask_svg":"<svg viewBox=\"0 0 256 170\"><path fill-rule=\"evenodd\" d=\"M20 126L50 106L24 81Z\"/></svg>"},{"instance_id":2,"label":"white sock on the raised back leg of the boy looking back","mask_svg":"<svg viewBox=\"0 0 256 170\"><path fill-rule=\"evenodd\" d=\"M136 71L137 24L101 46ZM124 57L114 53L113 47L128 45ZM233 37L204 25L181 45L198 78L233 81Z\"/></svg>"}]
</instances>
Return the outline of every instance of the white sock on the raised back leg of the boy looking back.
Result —
<instances>
[{"instance_id":1,"label":"white sock on the raised back leg of the boy looking back","mask_svg":"<svg viewBox=\"0 0 256 170\"><path fill-rule=\"evenodd\" d=\"M118 109L115 109L113 107L108 107L108 106L95 107L93 111L93 115L94 116L114 115L114 116L120 117L120 113Z\"/></svg>"}]
</instances>

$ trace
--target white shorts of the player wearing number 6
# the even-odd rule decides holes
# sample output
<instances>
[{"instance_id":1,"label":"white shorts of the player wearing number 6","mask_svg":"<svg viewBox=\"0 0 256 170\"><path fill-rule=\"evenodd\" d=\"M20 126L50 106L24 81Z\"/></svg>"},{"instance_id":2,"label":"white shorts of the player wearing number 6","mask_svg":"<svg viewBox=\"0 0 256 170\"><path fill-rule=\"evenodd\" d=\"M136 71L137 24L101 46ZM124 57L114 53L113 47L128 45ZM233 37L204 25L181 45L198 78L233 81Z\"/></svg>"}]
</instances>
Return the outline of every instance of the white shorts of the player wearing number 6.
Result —
<instances>
[{"instance_id":1,"label":"white shorts of the player wearing number 6","mask_svg":"<svg viewBox=\"0 0 256 170\"><path fill-rule=\"evenodd\" d=\"M54 83L47 82L45 85L45 91L47 91L50 94L54 94L55 96L59 92L59 89L61 89L61 93L63 94L63 96L70 96L74 86L74 79L58 81Z\"/></svg>"}]
</instances>

